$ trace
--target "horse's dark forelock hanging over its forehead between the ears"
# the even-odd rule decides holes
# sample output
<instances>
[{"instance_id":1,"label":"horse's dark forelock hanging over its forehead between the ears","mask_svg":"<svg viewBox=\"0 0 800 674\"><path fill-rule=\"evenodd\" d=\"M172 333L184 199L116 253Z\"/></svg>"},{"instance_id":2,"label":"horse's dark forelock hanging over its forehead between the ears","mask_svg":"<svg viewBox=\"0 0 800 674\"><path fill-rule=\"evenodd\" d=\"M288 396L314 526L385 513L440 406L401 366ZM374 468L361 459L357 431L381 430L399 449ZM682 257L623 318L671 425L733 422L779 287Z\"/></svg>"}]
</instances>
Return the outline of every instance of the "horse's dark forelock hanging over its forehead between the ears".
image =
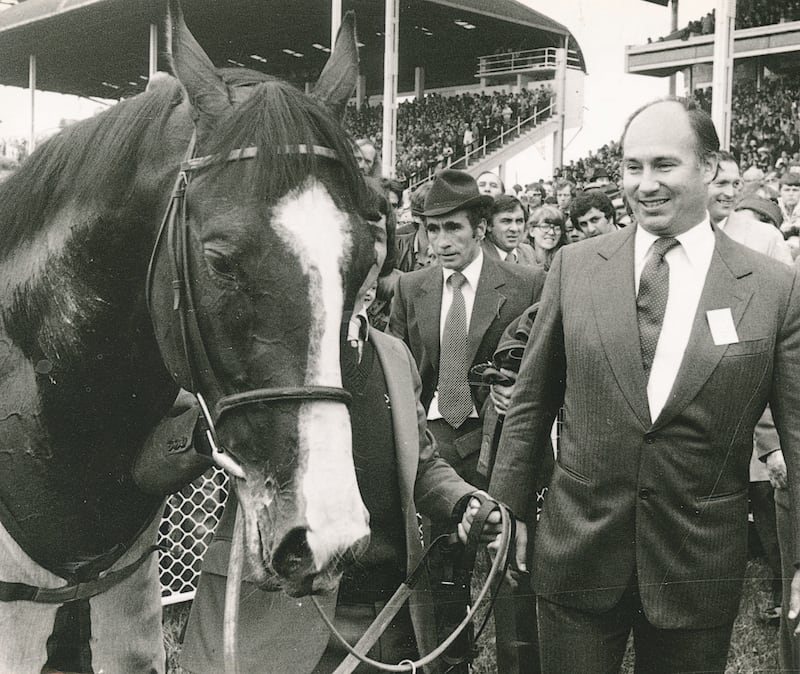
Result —
<instances>
[{"instance_id":1,"label":"horse's dark forelock hanging over its forehead between the ears","mask_svg":"<svg viewBox=\"0 0 800 674\"><path fill-rule=\"evenodd\" d=\"M322 165L331 161L314 154L287 154L283 149L299 144L322 145L336 153L335 170L350 188L349 195L332 194L334 200L362 215L375 211L374 196L358 169L348 136L321 102L262 73L242 69L221 72L229 87L248 87L251 91L220 122L209 147L201 148L202 154L225 158L233 150L256 147L258 169L253 172L252 187L259 198L275 200L302 185L309 175L319 174ZM219 161L209 170L220 171L224 166L225 161Z\"/></svg>"}]
</instances>

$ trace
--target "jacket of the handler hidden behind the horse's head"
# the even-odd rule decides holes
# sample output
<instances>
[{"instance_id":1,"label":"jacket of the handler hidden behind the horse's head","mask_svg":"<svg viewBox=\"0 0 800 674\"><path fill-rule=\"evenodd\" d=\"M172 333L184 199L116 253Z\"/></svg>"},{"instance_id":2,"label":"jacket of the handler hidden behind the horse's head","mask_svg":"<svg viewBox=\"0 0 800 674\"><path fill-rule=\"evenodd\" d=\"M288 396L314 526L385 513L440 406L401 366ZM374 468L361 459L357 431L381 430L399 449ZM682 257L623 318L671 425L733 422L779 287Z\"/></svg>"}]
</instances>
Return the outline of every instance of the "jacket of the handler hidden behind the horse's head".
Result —
<instances>
[{"instance_id":1,"label":"jacket of the handler hidden behind the horse's head","mask_svg":"<svg viewBox=\"0 0 800 674\"><path fill-rule=\"evenodd\" d=\"M406 346L377 330L369 340L383 367L391 400L392 426L397 452L402 516L405 524L406 568L422 557L417 510L428 517L448 521L453 509L475 488L464 482L438 457L425 413L419 403L420 380ZM230 499L230 497L229 497ZM235 504L235 498L232 501ZM203 559L203 574L184 640L182 664L192 672L224 670L222 631L225 575L235 507L226 506L223 520ZM246 569L245 569L246 572ZM246 578L245 573L245 578ZM335 595L321 597L333 616ZM421 582L409 599L417 645L426 654L436 647L436 623L429 585ZM249 672L311 672L325 650L329 634L307 598L294 599L282 592L242 589L239 619L239 666ZM426 671L435 671L431 667Z\"/></svg>"}]
</instances>

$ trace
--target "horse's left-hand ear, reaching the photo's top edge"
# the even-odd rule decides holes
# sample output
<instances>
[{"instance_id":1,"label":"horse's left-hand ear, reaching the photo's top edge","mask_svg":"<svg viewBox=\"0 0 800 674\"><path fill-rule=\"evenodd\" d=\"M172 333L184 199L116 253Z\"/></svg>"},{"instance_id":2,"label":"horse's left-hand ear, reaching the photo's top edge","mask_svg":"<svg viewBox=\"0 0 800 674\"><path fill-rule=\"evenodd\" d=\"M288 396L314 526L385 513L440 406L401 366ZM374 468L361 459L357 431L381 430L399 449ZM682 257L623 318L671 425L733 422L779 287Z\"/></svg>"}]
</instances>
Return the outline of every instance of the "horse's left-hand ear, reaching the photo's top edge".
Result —
<instances>
[{"instance_id":1,"label":"horse's left-hand ear, reaching the photo's top edge","mask_svg":"<svg viewBox=\"0 0 800 674\"><path fill-rule=\"evenodd\" d=\"M167 53L172 72L189 97L198 140L202 141L216 121L232 107L228 88L187 28L179 0L169 0L166 24Z\"/></svg>"}]
</instances>

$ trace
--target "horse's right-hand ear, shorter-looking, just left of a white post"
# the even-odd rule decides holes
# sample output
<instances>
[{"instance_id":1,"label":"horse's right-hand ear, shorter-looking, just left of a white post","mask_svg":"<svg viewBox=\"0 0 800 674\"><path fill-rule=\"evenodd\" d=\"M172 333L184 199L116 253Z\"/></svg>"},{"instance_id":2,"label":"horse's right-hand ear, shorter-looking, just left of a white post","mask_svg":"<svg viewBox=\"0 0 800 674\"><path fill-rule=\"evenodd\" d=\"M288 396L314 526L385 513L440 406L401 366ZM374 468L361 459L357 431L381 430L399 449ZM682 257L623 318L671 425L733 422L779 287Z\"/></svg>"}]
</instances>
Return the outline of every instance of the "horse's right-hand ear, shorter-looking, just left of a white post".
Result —
<instances>
[{"instance_id":1,"label":"horse's right-hand ear, shorter-looking, just left of a white post","mask_svg":"<svg viewBox=\"0 0 800 674\"><path fill-rule=\"evenodd\" d=\"M324 103L339 119L342 119L347 101L353 95L357 83L356 17L353 12L347 12L336 35L336 45L314 85L312 96Z\"/></svg>"}]
</instances>

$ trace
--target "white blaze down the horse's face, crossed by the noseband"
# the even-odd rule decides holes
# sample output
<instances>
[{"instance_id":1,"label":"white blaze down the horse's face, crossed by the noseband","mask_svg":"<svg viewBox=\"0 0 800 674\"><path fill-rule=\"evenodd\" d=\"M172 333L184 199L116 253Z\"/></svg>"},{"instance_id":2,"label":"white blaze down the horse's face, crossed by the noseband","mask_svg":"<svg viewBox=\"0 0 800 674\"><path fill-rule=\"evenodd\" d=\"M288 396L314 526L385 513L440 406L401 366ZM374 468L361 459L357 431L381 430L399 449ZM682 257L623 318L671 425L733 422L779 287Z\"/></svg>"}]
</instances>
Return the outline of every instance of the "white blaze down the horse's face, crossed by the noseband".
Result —
<instances>
[{"instance_id":1,"label":"white blaze down the horse's face, crossed by the noseband","mask_svg":"<svg viewBox=\"0 0 800 674\"><path fill-rule=\"evenodd\" d=\"M322 183L310 179L278 202L272 224L309 278L314 324L309 331L306 383L340 387L341 268L352 247L349 216L337 208ZM353 466L347 408L332 401L303 403L298 436L298 492L305 501L307 542L321 570L332 556L369 534Z\"/></svg>"}]
</instances>

